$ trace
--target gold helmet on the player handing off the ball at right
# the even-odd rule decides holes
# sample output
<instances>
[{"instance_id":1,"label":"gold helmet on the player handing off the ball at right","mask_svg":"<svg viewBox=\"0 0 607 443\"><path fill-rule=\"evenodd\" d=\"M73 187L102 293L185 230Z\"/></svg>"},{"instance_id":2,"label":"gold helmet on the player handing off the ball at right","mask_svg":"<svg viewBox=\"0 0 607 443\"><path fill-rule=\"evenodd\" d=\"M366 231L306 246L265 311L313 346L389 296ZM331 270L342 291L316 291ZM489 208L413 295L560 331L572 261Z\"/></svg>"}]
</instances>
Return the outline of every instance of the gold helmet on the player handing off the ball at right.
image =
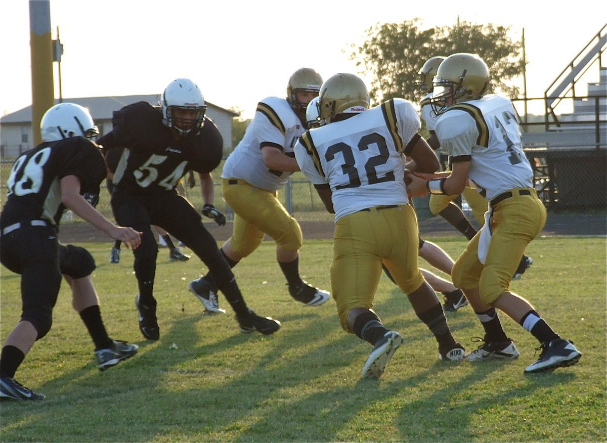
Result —
<instances>
[{"instance_id":1,"label":"gold helmet on the player handing off the ball at right","mask_svg":"<svg viewBox=\"0 0 607 443\"><path fill-rule=\"evenodd\" d=\"M487 92L489 79L489 68L480 56L465 52L448 56L434 78L432 109L438 115L452 104L478 100Z\"/></svg>"}]
</instances>

